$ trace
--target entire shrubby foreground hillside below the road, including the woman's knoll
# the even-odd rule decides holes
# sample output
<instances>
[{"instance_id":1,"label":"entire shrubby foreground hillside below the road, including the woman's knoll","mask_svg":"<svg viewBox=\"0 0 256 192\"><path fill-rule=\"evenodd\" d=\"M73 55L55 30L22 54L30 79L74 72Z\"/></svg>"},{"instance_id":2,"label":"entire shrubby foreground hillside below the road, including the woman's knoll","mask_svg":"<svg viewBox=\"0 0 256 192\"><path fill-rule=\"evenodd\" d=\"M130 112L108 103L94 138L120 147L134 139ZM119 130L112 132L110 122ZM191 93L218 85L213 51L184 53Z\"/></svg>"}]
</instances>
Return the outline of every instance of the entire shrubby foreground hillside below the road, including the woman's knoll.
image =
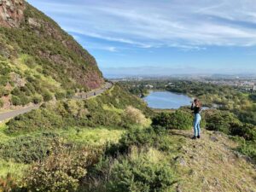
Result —
<instances>
[{"instance_id":1,"label":"entire shrubby foreground hillside below the road, including the woman's knoll","mask_svg":"<svg viewBox=\"0 0 256 192\"><path fill-rule=\"evenodd\" d=\"M255 128L218 110L203 119L212 131L191 140L187 108L154 113L119 85L49 103L0 126L0 189L253 191Z\"/></svg>"}]
</instances>

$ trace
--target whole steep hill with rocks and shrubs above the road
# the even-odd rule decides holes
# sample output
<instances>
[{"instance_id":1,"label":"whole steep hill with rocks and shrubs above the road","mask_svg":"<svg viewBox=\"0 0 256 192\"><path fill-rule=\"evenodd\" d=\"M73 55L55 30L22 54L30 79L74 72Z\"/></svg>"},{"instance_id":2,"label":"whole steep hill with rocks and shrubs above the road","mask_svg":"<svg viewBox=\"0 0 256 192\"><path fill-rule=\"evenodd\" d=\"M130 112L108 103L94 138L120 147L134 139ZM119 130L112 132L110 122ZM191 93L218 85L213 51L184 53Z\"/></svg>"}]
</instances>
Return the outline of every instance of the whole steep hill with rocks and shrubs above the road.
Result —
<instances>
[{"instance_id":1,"label":"whole steep hill with rocks and shrubs above the road","mask_svg":"<svg viewBox=\"0 0 256 192\"><path fill-rule=\"evenodd\" d=\"M95 58L23 0L0 1L0 108L70 96L104 82Z\"/></svg>"}]
</instances>

